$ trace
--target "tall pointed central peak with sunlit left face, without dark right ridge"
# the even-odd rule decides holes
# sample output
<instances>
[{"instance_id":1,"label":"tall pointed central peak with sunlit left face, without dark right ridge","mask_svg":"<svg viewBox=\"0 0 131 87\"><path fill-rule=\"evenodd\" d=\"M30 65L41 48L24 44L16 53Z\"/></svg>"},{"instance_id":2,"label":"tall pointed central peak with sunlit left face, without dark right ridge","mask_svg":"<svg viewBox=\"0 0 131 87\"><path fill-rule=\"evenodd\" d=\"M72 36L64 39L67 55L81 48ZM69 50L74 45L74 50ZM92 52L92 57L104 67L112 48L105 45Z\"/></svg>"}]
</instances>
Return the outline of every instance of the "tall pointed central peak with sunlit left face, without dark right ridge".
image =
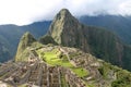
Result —
<instances>
[{"instance_id":1,"label":"tall pointed central peak with sunlit left face, without dark right ridge","mask_svg":"<svg viewBox=\"0 0 131 87\"><path fill-rule=\"evenodd\" d=\"M56 15L48 34L51 35L55 41L59 45L78 47L84 49L85 51L90 50L87 48L87 40L84 39L82 25L67 9L62 9Z\"/></svg>"}]
</instances>

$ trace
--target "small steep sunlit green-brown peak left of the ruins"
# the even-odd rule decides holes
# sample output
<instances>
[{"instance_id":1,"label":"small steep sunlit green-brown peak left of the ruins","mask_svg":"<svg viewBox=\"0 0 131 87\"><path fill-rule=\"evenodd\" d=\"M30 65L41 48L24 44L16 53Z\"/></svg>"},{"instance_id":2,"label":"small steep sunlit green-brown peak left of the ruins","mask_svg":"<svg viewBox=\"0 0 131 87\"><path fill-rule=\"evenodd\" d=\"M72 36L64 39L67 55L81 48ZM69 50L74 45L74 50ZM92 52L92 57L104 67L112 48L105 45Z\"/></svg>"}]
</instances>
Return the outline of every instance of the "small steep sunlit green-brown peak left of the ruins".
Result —
<instances>
[{"instance_id":1,"label":"small steep sunlit green-brown peak left of the ruins","mask_svg":"<svg viewBox=\"0 0 131 87\"><path fill-rule=\"evenodd\" d=\"M28 32L25 33L20 40L20 44L19 44L19 47L17 47L17 52L16 52L16 55L15 55L15 61L27 60L27 55L29 53L29 50L27 49L27 47L32 46L33 42L36 42L36 39ZM37 42L34 44L34 45L38 46Z\"/></svg>"}]
</instances>

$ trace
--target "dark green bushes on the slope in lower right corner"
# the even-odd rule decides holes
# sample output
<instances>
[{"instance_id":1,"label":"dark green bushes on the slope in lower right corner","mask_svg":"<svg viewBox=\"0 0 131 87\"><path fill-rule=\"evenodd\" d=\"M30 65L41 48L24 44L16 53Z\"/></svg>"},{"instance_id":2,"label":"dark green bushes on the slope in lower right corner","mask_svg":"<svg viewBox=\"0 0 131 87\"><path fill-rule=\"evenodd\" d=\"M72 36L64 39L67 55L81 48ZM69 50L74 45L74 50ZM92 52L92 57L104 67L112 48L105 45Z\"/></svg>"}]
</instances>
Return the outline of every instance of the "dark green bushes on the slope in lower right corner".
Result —
<instances>
[{"instance_id":1,"label":"dark green bushes on the slope in lower right corner","mask_svg":"<svg viewBox=\"0 0 131 87\"><path fill-rule=\"evenodd\" d=\"M106 62L103 62L103 66L100 66L98 71L105 79L108 79L109 73L114 72L116 78L111 83L111 87L131 87L131 73L128 71Z\"/></svg>"}]
</instances>

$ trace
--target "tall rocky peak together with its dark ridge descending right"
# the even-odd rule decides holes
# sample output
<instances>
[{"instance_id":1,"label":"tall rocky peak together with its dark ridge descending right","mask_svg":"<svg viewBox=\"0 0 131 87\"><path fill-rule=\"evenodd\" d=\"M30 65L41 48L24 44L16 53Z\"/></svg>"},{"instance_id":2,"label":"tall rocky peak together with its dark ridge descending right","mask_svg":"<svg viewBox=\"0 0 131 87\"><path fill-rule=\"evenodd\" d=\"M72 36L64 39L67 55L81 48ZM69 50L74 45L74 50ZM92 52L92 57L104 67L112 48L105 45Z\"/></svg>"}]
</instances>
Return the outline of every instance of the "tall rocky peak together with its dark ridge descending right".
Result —
<instances>
[{"instance_id":1,"label":"tall rocky peak together with its dark ridge descending right","mask_svg":"<svg viewBox=\"0 0 131 87\"><path fill-rule=\"evenodd\" d=\"M48 35L59 45L80 48L97 58L122 66L124 46L112 33L94 26L85 26L62 9L52 21Z\"/></svg>"}]
</instances>

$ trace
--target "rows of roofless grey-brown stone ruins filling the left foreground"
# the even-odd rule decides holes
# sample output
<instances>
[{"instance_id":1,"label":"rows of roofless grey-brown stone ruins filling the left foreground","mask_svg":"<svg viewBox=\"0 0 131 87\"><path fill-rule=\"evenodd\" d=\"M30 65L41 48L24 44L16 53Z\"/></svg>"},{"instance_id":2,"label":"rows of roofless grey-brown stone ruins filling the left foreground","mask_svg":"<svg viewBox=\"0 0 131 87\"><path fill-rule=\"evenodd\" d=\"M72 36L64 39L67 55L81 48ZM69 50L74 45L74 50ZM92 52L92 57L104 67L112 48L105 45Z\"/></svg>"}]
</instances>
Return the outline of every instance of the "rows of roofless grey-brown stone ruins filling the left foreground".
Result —
<instances>
[{"instance_id":1,"label":"rows of roofless grey-brown stone ruins filling the left foreground","mask_svg":"<svg viewBox=\"0 0 131 87\"><path fill-rule=\"evenodd\" d=\"M49 66L40 62L7 63L0 66L0 82L4 87L85 87L83 80L69 69Z\"/></svg>"}]
</instances>

